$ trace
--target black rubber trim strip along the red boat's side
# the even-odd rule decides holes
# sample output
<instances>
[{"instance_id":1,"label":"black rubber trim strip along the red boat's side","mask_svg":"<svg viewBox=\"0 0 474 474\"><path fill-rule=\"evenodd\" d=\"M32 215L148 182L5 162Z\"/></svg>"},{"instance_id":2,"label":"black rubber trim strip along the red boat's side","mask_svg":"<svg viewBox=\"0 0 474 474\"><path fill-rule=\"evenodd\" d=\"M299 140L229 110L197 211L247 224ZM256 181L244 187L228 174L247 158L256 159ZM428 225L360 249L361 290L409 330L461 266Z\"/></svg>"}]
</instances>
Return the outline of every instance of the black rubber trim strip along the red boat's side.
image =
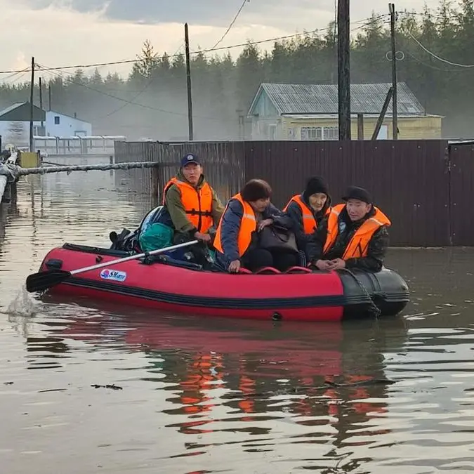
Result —
<instances>
[{"instance_id":1,"label":"black rubber trim strip along the red boat's side","mask_svg":"<svg viewBox=\"0 0 474 474\"><path fill-rule=\"evenodd\" d=\"M97 282L96 280L70 277L63 284L74 287L110 291L122 296L134 296L160 303L170 303L183 306L199 306L216 309L242 310L277 310L293 308L334 308L346 305L367 305L366 296L308 296L304 298L216 298L214 296L187 296L162 291L153 291L137 287L127 287L111 282Z\"/></svg>"}]
</instances>

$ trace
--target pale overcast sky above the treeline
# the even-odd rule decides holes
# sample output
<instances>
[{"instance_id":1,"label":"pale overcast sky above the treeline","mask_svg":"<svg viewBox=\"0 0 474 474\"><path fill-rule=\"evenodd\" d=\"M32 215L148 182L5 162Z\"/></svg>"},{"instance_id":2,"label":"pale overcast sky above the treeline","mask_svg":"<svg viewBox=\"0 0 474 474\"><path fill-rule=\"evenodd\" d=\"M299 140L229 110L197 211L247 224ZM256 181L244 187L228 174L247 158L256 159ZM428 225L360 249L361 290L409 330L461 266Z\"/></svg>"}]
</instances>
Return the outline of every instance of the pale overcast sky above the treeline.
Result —
<instances>
[{"instance_id":1,"label":"pale overcast sky above the treeline","mask_svg":"<svg viewBox=\"0 0 474 474\"><path fill-rule=\"evenodd\" d=\"M435 8L438 1L399 0L396 7L421 12L425 3ZM241 5L242 0L0 0L0 70L23 69L32 55L49 67L133 59L145 39L156 51L172 54L183 44L185 22L191 49L211 48ZM371 11L388 13L388 2L351 0L353 28ZM332 19L334 0L249 0L219 46L324 28ZM129 66L100 68L107 70L128 74ZM1 79L16 78L0 74Z\"/></svg>"}]
</instances>

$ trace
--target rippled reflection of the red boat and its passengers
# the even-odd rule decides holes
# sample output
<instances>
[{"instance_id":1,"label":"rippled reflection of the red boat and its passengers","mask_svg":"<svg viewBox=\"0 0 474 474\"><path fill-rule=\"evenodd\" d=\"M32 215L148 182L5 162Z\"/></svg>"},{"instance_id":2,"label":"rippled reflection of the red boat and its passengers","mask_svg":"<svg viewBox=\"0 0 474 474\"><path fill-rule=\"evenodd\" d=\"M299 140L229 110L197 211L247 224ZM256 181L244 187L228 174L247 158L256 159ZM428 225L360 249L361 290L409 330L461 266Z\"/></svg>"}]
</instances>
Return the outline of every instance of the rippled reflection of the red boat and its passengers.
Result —
<instances>
[{"instance_id":1,"label":"rippled reflection of the red boat and its passengers","mask_svg":"<svg viewBox=\"0 0 474 474\"><path fill-rule=\"evenodd\" d=\"M225 321L210 327L117 310L44 331L51 334L44 338L48 352L52 343L70 350L73 340L98 353L141 353L146 375L140 380L167 394L164 427L200 439L186 442L180 456L235 442L243 452L276 451L283 437L326 445L329 459L334 449L370 445L390 432L379 421L393 383L384 373L386 353L407 338L402 318L357 326Z\"/></svg>"}]
</instances>

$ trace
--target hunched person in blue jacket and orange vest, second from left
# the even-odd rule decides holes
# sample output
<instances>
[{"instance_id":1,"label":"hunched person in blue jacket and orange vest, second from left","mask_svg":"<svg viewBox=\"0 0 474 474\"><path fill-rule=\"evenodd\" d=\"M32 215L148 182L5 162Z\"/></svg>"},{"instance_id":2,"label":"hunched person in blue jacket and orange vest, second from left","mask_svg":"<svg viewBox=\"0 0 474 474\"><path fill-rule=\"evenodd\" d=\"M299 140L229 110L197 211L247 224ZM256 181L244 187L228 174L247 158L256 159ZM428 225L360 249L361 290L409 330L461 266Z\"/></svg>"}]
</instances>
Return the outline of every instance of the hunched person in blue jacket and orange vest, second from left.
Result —
<instances>
[{"instance_id":1,"label":"hunched person in blue jacket and orange vest, second from left","mask_svg":"<svg viewBox=\"0 0 474 474\"><path fill-rule=\"evenodd\" d=\"M258 233L265 227L275 224L291 232L293 226L291 218L271 204L271 195L266 181L252 179L229 200L214 239L216 261L228 272L263 267L284 271L298 264L296 249L270 251L259 246Z\"/></svg>"}]
</instances>

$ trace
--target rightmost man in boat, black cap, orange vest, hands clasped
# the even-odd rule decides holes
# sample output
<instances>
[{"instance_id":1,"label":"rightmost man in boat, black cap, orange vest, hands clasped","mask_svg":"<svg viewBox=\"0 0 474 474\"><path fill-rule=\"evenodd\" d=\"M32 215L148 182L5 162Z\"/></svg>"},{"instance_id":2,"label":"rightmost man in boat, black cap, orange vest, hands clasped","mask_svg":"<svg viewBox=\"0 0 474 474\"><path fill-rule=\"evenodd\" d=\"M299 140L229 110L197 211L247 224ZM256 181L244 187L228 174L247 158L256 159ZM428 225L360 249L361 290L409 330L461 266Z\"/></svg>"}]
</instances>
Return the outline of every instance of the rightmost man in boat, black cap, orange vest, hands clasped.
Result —
<instances>
[{"instance_id":1,"label":"rightmost man in boat, black cap, orange vest, hands clasped","mask_svg":"<svg viewBox=\"0 0 474 474\"><path fill-rule=\"evenodd\" d=\"M308 260L319 270L381 270L390 220L362 187L349 187L343 201L331 209L308 242Z\"/></svg>"}]
</instances>

